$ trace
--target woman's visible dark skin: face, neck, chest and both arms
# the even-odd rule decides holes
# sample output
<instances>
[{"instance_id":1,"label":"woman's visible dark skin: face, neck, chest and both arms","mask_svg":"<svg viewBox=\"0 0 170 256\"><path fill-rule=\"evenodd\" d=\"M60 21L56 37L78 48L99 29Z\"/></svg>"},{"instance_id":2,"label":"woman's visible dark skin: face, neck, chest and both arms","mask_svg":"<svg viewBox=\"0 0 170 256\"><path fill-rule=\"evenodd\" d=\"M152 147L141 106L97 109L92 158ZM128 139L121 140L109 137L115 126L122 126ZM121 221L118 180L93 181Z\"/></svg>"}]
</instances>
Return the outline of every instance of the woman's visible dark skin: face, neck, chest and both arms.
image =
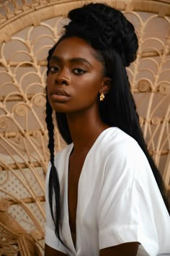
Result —
<instances>
[{"instance_id":1,"label":"woman's visible dark skin: face, neck, chest and both arms","mask_svg":"<svg viewBox=\"0 0 170 256\"><path fill-rule=\"evenodd\" d=\"M99 93L108 93L109 85L110 79L104 77L103 64L97 60L94 49L86 41L67 38L55 48L48 75L48 99L55 111L66 113L74 145L68 169L68 214L74 234L81 169L91 146L108 128L99 116L98 98ZM99 255L135 256L137 252L138 242L130 242L101 249ZM65 254L45 244L45 256L60 255Z\"/></svg>"}]
</instances>

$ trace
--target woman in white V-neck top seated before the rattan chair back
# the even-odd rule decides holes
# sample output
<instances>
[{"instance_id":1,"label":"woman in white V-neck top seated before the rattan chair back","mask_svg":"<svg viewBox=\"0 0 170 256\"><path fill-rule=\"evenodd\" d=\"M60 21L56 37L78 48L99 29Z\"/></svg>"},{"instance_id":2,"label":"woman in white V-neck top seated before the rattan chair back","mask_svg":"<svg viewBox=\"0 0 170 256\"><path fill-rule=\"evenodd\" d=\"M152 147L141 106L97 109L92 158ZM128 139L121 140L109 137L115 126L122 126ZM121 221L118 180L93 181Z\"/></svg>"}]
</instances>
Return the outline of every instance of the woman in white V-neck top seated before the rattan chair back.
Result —
<instances>
[{"instance_id":1,"label":"woman in white V-neck top seated before the rattan chair back","mask_svg":"<svg viewBox=\"0 0 170 256\"><path fill-rule=\"evenodd\" d=\"M48 55L45 255L170 252L161 176L148 154L125 67L138 39L104 4L73 9ZM54 158L53 119L68 146Z\"/></svg>"}]
</instances>

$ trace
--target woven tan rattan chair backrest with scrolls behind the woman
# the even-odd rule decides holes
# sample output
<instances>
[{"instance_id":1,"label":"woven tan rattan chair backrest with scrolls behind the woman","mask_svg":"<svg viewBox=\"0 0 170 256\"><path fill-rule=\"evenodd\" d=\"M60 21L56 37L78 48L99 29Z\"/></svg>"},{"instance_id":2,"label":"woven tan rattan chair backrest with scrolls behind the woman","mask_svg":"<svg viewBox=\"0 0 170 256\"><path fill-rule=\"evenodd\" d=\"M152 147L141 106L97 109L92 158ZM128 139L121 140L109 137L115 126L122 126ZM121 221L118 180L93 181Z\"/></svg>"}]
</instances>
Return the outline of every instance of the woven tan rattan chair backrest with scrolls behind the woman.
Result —
<instances>
[{"instance_id":1,"label":"woven tan rattan chair backrest with scrolls behind the woman","mask_svg":"<svg viewBox=\"0 0 170 256\"><path fill-rule=\"evenodd\" d=\"M68 11L89 2L0 1L0 255L17 255L19 249L29 255L32 242L25 231L43 255L46 57L68 22ZM128 68L131 90L148 149L170 189L170 3L102 2L135 25L139 50ZM56 128L55 145L56 151L64 147Z\"/></svg>"}]
</instances>

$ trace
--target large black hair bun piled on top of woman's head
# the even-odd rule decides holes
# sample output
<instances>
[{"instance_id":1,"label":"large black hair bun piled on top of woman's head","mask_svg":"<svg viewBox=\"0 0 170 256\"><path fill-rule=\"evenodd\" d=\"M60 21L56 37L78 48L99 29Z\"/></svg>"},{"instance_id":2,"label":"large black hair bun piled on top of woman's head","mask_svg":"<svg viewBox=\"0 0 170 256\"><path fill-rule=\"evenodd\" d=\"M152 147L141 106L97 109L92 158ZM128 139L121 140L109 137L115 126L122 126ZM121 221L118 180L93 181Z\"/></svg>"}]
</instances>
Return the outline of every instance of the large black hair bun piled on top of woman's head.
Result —
<instances>
[{"instance_id":1,"label":"large black hair bun piled on top of woman's head","mask_svg":"<svg viewBox=\"0 0 170 256\"><path fill-rule=\"evenodd\" d=\"M94 48L115 48L125 66L135 60L138 39L135 29L122 12L105 4L87 4L68 13L66 33L79 30Z\"/></svg>"}]
</instances>

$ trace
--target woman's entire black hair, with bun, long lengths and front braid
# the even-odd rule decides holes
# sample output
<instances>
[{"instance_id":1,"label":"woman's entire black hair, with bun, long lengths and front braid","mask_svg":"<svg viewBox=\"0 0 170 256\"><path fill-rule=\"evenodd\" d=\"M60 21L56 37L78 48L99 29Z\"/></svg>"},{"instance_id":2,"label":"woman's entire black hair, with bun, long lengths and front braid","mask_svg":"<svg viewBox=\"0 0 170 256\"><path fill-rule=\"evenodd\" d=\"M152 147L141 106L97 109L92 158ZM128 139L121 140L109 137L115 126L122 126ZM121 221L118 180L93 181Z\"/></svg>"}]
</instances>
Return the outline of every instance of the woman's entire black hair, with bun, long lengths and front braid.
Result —
<instances>
[{"instance_id":1,"label":"woman's entire black hair, with bun, long lengths and front braid","mask_svg":"<svg viewBox=\"0 0 170 256\"><path fill-rule=\"evenodd\" d=\"M138 145L140 145L140 148L142 148L148 158L166 208L169 210L164 182L151 155L148 153L146 143L143 139L143 132L140 129L135 101L130 92L130 82L125 69L125 67L128 67L135 60L138 50L138 38L133 25L125 18L122 12L105 4L87 4L84 7L73 9L68 13L68 18L71 22L66 25L66 31L58 43L65 38L76 36L86 40L96 51L98 59L104 64L105 75L110 77L112 81L109 93L105 95L102 104L99 104L101 119L110 127L119 127L138 142ZM50 68L50 58L58 43L49 51L47 75ZM47 97L46 123L49 134L48 148L50 150L51 162L49 202L50 211L55 223L55 234L61 240L59 232L61 218L60 186L54 165L52 112ZM72 139L66 114L55 113L55 115L59 132L63 139L70 144ZM53 192L55 197L53 197ZM53 210L53 198L55 198L55 211Z\"/></svg>"}]
</instances>

